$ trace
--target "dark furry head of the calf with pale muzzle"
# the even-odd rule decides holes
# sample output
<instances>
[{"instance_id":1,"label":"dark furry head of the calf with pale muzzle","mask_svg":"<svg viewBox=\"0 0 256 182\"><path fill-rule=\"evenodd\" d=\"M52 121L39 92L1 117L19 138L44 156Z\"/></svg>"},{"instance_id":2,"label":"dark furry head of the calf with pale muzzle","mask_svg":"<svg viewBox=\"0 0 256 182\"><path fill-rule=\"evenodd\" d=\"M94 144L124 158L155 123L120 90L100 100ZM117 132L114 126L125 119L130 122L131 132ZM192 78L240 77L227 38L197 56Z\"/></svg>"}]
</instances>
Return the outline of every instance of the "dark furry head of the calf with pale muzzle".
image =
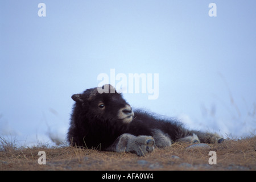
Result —
<instances>
[{"instance_id":1,"label":"dark furry head of the calf with pale muzzle","mask_svg":"<svg viewBox=\"0 0 256 182\"><path fill-rule=\"evenodd\" d=\"M130 123L134 113L131 106L116 92L112 85L87 89L81 94L74 94L75 107L79 107L81 114L89 115L101 121L116 119L123 123Z\"/></svg>"}]
</instances>

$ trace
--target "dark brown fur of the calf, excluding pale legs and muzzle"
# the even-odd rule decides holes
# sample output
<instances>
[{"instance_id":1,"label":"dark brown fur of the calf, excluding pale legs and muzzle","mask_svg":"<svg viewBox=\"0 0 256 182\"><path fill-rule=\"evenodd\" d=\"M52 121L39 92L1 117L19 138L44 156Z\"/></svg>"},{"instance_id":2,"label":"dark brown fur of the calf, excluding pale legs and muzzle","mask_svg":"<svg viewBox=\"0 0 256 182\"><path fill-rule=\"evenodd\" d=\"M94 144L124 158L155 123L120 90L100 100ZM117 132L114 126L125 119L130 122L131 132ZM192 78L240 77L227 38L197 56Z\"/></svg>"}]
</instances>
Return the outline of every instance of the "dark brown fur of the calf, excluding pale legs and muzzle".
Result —
<instances>
[{"instance_id":1,"label":"dark brown fur of the calf, excluding pale legs and muzzle","mask_svg":"<svg viewBox=\"0 0 256 182\"><path fill-rule=\"evenodd\" d=\"M161 119L143 110L135 110L133 120L129 123L123 122L118 114L121 112L125 115L132 111L123 109L129 108L129 104L122 98L122 94L110 93L110 88L113 87L109 85L109 93L100 94L97 88L93 88L72 96L76 103L67 136L72 146L106 150L122 134L154 136L156 130L162 131L172 142L192 136L193 133L201 142L214 142L210 140L216 136L214 134L189 131L175 119Z\"/></svg>"}]
</instances>

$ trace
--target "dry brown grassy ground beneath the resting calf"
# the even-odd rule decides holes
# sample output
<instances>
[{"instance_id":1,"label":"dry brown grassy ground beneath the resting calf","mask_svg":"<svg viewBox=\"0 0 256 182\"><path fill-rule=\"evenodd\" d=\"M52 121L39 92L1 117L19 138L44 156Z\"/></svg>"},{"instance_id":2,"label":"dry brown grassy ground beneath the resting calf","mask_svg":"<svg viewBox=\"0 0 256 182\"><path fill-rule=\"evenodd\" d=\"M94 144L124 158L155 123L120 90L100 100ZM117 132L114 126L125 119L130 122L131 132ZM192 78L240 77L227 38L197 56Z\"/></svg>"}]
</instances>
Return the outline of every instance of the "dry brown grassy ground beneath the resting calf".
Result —
<instances>
[{"instance_id":1,"label":"dry brown grassy ground beneath the resting calf","mask_svg":"<svg viewBox=\"0 0 256 182\"><path fill-rule=\"evenodd\" d=\"M15 147L0 141L0 170L256 170L256 137L226 139L210 148L174 143L144 157L68 146ZM38 164L39 151L46 152L46 165ZM216 151L216 165L208 163L209 151Z\"/></svg>"}]
</instances>

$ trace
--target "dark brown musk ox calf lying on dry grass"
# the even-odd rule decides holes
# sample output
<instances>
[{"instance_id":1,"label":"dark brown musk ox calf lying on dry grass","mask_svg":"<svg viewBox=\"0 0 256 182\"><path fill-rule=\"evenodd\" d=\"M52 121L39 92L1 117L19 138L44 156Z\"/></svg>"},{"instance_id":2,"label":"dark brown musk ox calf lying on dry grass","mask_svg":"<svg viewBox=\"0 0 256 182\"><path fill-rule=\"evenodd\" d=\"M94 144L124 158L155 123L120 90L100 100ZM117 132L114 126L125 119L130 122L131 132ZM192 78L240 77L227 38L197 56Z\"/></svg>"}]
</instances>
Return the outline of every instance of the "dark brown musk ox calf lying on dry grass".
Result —
<instances>
[{"instance_id":1,"label":"dark brown musk ox calf lying on dry grass","mask_svg":"<svg viewBox=\"0 0 256 182\"><path fill-rule=\"evenodd\" d=\"M142 156L154 151L154 147L171 146L177 141L220 143L224 140L217 134L187 130L174 119L162 119L143 110L133 111L112 85L87 89L74 94L72 99L76 103L67 136L72 146Z\"/></svg>"}]
</instances>

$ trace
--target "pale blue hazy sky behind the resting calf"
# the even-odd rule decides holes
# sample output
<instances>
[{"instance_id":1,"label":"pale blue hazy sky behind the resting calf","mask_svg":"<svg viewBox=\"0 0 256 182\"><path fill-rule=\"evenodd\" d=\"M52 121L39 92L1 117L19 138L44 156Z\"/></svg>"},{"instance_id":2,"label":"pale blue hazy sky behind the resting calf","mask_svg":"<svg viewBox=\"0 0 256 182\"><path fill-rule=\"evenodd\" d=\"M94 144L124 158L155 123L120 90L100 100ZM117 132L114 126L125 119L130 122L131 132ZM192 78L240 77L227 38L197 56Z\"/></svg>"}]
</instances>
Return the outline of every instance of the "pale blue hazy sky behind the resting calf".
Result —
<instances>
[{"instance_id":1,"label":"pale blue hazy sky behind the resting calf","mask_svg":"<svg viewBox=\"0 0 256 182\"><path fill-rule=\"evenodd\" d=\"M255 1L1 1L0 135L48 142L50 128L64 138L72 94L112 68L159 74L157 100L124 94L133 107L255 134L255 22Z\"/></svg>"}]
</instances>

